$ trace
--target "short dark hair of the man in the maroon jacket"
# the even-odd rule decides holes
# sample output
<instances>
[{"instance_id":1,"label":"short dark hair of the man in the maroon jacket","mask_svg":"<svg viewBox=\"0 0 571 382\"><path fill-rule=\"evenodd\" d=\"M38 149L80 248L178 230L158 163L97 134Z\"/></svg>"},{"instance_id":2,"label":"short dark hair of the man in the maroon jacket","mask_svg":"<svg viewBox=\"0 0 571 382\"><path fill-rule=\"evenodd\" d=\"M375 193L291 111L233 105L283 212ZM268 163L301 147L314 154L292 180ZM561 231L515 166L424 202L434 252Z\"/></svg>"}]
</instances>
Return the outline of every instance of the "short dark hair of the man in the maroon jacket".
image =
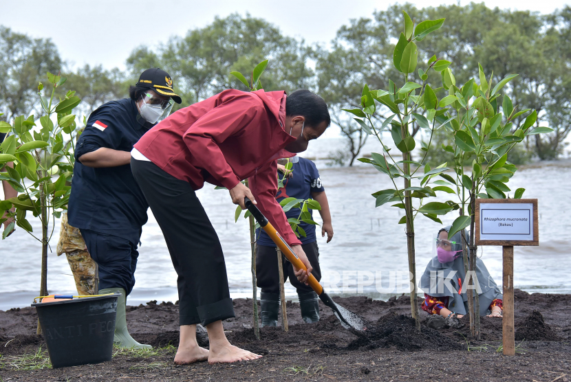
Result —
<instances>
[{"instance_id":1,"label":"short dark hair of the man in the maroon jacket","mask_svg":"<svg viewBox=\"0 0 571 382\"><path fill-rule=\"evenodd\" d=\"M327 110L327 104L319 95L308 89L299 89L286 98L286 115L305 117L305 126L316 127L322 122L331 124L331 117Z\"/></svg>"}]
</instances>

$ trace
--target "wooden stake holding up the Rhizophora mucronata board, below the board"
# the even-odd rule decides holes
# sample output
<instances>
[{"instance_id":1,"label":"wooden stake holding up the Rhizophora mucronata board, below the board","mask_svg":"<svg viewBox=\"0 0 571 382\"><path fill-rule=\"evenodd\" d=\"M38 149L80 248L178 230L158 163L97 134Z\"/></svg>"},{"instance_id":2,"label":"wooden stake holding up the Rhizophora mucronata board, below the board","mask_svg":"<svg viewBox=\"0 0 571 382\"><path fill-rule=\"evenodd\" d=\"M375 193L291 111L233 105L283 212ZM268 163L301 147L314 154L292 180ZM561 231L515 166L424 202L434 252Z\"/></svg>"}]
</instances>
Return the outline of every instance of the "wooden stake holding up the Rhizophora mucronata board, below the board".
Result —
<instances>
[{"instance_id":1,"label":"wooden stake holding up the Rhizophora mucronata board, below the board","mask_svg":"<svg viewBox=\"0 0 571 382\"><path fill-rule=\"evenodd\" d=\"M513 326L513 246L504 245L504 355L515 355Z\"/></svg>"}]
</instances>

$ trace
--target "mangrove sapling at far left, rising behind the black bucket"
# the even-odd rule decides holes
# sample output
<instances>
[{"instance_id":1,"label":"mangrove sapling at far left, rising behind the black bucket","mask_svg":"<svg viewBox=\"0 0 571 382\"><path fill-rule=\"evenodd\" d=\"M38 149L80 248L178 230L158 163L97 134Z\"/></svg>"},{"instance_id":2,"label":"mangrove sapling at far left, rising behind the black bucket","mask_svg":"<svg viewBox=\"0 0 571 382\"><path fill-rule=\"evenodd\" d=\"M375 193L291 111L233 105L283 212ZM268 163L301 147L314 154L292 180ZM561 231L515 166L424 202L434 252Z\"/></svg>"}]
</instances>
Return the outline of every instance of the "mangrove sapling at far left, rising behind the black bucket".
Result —
<instances>
[{"instance_id":1,"label":"mangrove sapling at far left, rising behind the black bucket","mask_svg":"<svg viewBox=\"0 0 571 382\"><path fill-rule=\"evenodd\" d=\"M32 129L36 126L34 115L27 119L24 119L23 115L15 117L12 124L0 122L1 133L12 133L0 145L0 168L7 162L14 163L14 168L6 166L6 172L0 172L0 179L8 181L12 188L21 193L17 197L0 201L0 210L10 210L12 206L16 208L15 212L6 214L6 217L15 220L6 227L2 238L6 238L15 223L41 243L40 295L47 295L47 249L54 234L55 218L59 218L61 213L67 210L71 192L67 182L73 175L74 139L77 138L73 134L77 124L72 110L80 102L74 91L68 91L65 98L56 102L55 90L65 83L65 77L47 73L47 80L52 87L50 98L41 95L41 82L38 87L40 103L45 113L39 118L39 131ZM56 115L56 123L52 121L53 115ZM69 135L69 141L65 141L64 135ZM55 170L59 177L52 181ZM26 218L28 212L39 218L41 236L32 232L32 225ZM0 224L6 221L6 217L0 218ZM39 333L41 328L38 325Z\"/></svg>"}]
</instances>

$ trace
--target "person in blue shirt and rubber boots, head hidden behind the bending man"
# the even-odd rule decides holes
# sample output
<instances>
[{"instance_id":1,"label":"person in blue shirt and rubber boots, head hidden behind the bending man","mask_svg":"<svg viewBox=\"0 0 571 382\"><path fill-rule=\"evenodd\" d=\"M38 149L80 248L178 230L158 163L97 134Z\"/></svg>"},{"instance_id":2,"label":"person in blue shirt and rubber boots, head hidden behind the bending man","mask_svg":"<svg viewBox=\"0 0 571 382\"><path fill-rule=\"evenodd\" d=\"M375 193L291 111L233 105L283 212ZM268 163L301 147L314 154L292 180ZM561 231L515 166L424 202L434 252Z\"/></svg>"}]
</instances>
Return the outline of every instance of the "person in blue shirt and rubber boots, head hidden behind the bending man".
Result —
<instances>
[{"instance_id":1,"label":"person in blue shirt and rubber boots, head hidden behind the bending man","mask_svg":"<svg viewBox=\"0 0 571 382\"><path fill-rule=\"evenodd\" d=\"M283 199L293 197L318 201L321 205L319 213L323 220L321 236L327 234L327 243L329 243L333 238L333 227L331 225L329 203L325 195L325 188L323 188L321 178L319 177L319 171L309 159L293 157L290 160L293 162L291 171L286 170L284 166L278 166L278 176L283 181L283 188L279 188L276 199L277 201L282 201ZM286 212L286 216L288 218L298 218L300 212L299 208L292 208ZM312 210L310 210L311 212ZM317 247L315 225L301 223L299 226L306 234L305 237L303 235L299 237L301 247L313 267L313 276L319 281L321 279L321 269L319 268L319 247ZM256 236L256 278L257 286L261 288L261 326L277 326L280 298L276 245L263 230L258 229ZM319 298L317 294L311 287L297 280L292 264L283 256L282 264L284 282L289 278L291 284L297 290L303 321L308 323L319 321Z\"/></svg>"}]
</instances>

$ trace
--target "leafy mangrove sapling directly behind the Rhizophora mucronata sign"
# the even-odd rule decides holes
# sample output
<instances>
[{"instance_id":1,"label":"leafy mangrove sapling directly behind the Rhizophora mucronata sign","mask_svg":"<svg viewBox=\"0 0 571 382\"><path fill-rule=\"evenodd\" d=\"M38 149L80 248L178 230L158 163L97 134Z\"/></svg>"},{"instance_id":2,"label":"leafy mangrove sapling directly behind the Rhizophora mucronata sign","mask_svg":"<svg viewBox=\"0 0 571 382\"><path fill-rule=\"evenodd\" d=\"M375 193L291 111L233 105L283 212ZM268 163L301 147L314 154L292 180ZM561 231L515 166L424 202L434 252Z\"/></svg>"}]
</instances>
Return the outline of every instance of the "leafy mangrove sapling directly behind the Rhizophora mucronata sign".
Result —
<instances>
[{"instance_id":1,"label":"leafy mangrove sapling directly behind the Rhizophora mucronata sign","mask_svg":"<svg viewBox=\"0 0 571 382\"><path fill-rule=\"evenodd\" d=\"M449 70L449 69L446 69ZM515 111L508 95L503 96L502 112L499 112L499 91L515 78L510 74L499 81L492 89L493 74L486 80L484 69L479 66L480 85L474 79L468 80L460 88L456 87L451 72L442 76L442 85L448 90L443 100L448 100L449 109L436 117L444 124L448 133L453 135L453 146L442 148L454 155L454 177L442 175L446 181L438 181L442 190L455 194L460 205L460 216L455 219L449 237L462 231L462 249L466 274L470 271L473 277L466 282L468 293L468 314L470 315L471 335L480 339L480 301L476 286L475 273L477 247L475 246L475 199L505 199L505 192L510 192L506 185L517 170L507 161L508 153L528 135L548 133L551 128L538 126L537 112L525 109ZM440 102L442 102L441 100ZM513 120L519 115L530 112L521 126L513 126ZM505 120L504 120L505 118ZM473 158L471 174L465 172L464 164ZM514 197L521 198L524 188L518 188ZM466 243L464 229L470 227L469 243ZM468 260L468 250L471 256ZM476 290L476 293L474 291Z\"/></svg>"}]
</instances>

